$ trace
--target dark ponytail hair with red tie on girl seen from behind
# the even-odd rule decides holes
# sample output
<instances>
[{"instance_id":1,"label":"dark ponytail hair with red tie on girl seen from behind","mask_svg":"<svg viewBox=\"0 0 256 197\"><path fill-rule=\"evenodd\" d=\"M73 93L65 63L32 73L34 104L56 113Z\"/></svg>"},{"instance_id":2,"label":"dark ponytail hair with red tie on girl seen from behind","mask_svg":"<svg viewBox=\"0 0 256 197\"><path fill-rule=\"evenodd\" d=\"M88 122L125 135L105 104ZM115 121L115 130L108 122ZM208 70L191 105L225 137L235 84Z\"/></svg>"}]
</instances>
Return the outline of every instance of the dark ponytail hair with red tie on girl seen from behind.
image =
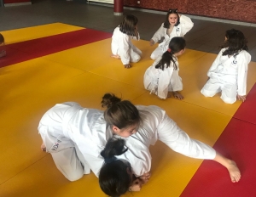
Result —
<instances>
[{"instance_id":1,"label":"dark ponytail hair with red tie on girl seen from behind","mask_svg":"<svg viewBox=\"0 0 256 197\"><path fill-rule=\"evenodd\" d=\"M172 40L169 43L169 49L163 53L162 59L160 59L160 62L155 65L156 69L165 69L168 68L171 65L171 61L174 66L174 70L177 70L177 65L175 64L175 59L173 57L174 53L178 53L181 50L183 50L186 47L186 41L183 37L173 37Z\"/></svg>"}]
</instances>

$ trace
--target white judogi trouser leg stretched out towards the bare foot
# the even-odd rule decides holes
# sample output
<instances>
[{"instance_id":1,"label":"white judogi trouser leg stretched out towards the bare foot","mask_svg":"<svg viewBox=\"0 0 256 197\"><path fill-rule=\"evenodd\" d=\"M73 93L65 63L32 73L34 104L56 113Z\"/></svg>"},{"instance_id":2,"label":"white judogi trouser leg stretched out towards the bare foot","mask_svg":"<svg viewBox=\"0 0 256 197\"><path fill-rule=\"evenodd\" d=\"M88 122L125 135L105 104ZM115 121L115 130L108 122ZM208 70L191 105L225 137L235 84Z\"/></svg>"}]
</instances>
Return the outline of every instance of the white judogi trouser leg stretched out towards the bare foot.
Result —
<instances>
[{"instance_id":1,"label":"white judogi trouser leg stretched out towards the bare foot","mask_svg":"<svg viewBox=\"0 0 256 197\"><path fill-rule=\"evenodd\" d=\"M164 112L165 113L165 112ZM189 138L168 115L164 115L158 127L158 138L175 152L197 159L212 160L216 151L207 144Z\"/></svg>"}]
</instances>

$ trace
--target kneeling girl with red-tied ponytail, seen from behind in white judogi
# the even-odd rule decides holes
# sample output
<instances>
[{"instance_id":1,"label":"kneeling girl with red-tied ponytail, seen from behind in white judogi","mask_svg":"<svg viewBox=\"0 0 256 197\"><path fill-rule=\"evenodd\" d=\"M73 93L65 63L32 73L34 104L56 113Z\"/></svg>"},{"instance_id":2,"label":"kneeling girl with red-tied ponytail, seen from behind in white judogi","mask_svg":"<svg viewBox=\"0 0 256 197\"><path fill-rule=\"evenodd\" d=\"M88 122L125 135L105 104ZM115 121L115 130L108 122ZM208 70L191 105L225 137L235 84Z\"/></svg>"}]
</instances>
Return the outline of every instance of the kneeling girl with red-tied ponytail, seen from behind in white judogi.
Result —
<instances>
[{"instance_id":1,"label":"kneeling girl with red-tied ponytail, seen from behind in white judogi","mask_svg":"<svg viewBox=\"0 0 256 197\"><path fill-rule=\"evenodd\" d=\"M169 48L162 56L154 61L144 74L144 87L155 93L159 98L171 97L183 99L178 91L183 90L183 82L178 76L177 56L184 53L186 42L183 37L173 37Z\"/></svg>"}]
</instances>

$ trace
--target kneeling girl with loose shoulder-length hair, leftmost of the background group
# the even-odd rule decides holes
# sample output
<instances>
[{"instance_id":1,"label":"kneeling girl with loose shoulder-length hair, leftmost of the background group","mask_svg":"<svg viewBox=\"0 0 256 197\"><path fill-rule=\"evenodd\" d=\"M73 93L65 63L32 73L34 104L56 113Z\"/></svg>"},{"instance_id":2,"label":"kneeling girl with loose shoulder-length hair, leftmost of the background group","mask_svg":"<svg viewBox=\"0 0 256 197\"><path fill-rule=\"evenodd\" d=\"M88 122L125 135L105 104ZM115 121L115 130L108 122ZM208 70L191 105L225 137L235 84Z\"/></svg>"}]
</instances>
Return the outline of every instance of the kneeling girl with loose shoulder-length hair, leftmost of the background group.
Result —
<instances>
[{"instance_id":1,"label":"kneeling girl with loose shoulder-length hair, leftmost of the background group","mask_svg":"<svg viewBox=\"0 0 256 197\"><path fill-rule=\"evenodd\" d=\"M131 42L131 39L140 39L137 31L137 22L136 16L125 15L121 24L113 31L111 42L112 57L121 59L126 69L131 68L131 62L138 62L142 55L142 51Z\"/></svg>"}]
</instances>

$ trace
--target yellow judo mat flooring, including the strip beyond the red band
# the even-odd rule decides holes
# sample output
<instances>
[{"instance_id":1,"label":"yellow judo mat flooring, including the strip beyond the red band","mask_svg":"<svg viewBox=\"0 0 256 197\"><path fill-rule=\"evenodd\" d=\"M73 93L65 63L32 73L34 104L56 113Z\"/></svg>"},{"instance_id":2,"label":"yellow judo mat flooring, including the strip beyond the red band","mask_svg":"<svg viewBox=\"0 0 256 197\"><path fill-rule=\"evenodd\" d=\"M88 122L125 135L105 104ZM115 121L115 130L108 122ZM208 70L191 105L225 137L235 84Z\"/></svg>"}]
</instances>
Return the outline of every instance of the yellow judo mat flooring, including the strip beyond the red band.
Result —
<instances>
[{"instance_id":1,"label":"yellow judo mat flooring, including the strip beyond the red band","mask_svg":"<svg viewBox=\"0 0 256 197\"><path fill-rule=\"evenodd\" d=\"M1 33L10 44L79 29L56 23ZM41 151L38 122L57 103L75 101L101 109L102 95L111 92L133 104L158 105L190 138L211 146L216 142L241 104L224 104L219 95L205 98L200 93L216 54L187 49L178 58L184 99L162 100L143 87L144 72L154 62L149 56L156 46L150 47L143 40L134 43L143 51L143 57L129 70L119 59L110 57L111 38L0 68L1 197L106 196L93 173L69 182L57 170L51 155ZM256 82L255 65L249 65L247 92ZM152 177L140 192L125 196L179 196L202 160L179 155L160 142L150 151Z\"/></svg>"}]
</instances>

